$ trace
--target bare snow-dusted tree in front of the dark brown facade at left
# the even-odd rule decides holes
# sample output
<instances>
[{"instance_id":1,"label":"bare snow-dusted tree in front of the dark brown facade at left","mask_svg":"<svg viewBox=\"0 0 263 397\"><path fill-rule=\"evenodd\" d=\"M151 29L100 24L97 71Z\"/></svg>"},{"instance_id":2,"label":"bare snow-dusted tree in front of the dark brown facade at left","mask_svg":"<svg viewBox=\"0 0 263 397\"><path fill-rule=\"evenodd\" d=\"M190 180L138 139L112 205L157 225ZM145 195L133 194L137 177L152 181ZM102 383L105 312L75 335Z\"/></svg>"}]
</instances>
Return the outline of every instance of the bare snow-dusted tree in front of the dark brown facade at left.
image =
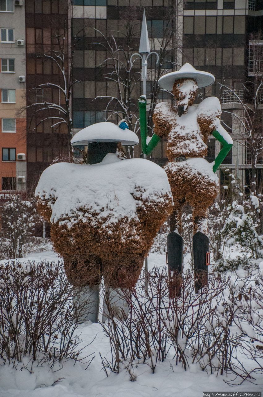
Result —
<instances>
[{"instance_id":1,"label":"bare snow-dusted tree in front of the dark brown facade at left","mask_svg":"<svg viewBox=\"0 0 263 397\"><path fill-rule=\"evenodd\" d=\"M71 1L67 4L68 14L71 11ZM84 30L84 28L83 28ZM47 81L33 87L31 91L32 103L27 106L31 113L31 121L38 120L32 131L46 120L50 120L49 128L67 134L68 156L71 158L71 138L73 136L73 121L71 111L72 89L80 80L74 79L73 62L78 42L83 34L76 33L71 39L68 17L65 17L63 28L52 28L50 45L43 46L42 52L36 53L36 58L43 64L51 64L56 71L56 81ZM52 95L48 93L53 92Z\"/></svg>"}]
</instances>

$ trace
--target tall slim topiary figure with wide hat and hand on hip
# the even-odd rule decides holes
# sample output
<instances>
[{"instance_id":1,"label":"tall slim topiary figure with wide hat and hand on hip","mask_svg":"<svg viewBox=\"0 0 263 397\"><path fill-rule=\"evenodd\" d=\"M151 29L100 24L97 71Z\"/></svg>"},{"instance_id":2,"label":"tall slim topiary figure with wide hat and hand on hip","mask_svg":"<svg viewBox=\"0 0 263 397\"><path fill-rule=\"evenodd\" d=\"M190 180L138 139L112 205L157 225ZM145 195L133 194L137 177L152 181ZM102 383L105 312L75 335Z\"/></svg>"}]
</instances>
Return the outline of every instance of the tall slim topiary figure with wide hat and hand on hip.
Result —
<instances>
[{"instance_id":1,"label":"tall slim topiary figure with wide hat and hand on hip","mask_svg":"<svg viewBox=\"0 0 263 397\"><path fill-rule=\"evenodd\" d=\"M203 235L203 232L206 232L203 221L208 206L213 203L218 193L219 182L215 171L233 145L231 137L220 123L221 106L218 98L210 97L200 104L194 104L198 88L207 87L214 80L211 73L196 70L190 64L185 64L179 71L162 76L158 84L173 92L176 106L161 102L156 105L153 115L155 135L167 138L166 154L169 162L164 169L174 200L174 210L170 219L171 231L181 231L181 210L185 203L189 203L193 209L194 231L202 233L194 237L194 247L200 248L200 245L204 244L207 251L208 239ZM207 141L211 134L223 144L223 149L215 162L209 163L204 156L207 154ZM201 240L195 243L198 236ZM178 238L175 236L175 239ZM200 255L199 252L196 256L199 262ZM180 254L178 258L181 261Z\"/></svg>"}]
</instances>

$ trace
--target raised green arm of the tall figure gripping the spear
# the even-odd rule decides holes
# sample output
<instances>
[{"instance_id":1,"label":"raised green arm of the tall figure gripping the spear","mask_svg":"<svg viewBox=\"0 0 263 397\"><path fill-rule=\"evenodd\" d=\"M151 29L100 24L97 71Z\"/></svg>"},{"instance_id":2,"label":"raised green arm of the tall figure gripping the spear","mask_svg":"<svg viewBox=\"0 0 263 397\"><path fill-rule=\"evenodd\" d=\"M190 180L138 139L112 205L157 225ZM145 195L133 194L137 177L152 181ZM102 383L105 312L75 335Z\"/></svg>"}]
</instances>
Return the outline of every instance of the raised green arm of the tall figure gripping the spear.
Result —
<instances>
[{"instance_id":1,"label":"raised green arm of the tall figure gripping the spear","mask_svg":"<svg viewBox=\"0 0 263 397\"><path fill-rule=\"evenodd\" d=\"M146 115L146 98L144 95L140 96L138 99L138 107L140 112L140 130L141 130L141 150L143 154L149 156L152 150L158 145L160 138L158 135L153 134L148 145L146 143L147 139L147 115Z\"/></svg>"}]
</instances>

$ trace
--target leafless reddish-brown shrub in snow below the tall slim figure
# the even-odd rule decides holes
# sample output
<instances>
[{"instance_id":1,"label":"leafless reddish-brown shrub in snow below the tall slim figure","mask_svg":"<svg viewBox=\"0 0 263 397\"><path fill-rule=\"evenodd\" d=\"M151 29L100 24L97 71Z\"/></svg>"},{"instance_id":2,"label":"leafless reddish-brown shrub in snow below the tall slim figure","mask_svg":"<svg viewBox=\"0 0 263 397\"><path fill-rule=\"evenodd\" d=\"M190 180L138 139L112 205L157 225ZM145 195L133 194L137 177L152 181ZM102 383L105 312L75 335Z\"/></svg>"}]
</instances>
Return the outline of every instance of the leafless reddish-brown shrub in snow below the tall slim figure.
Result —
<instances>
[{"instance_id":1,"label":"leafless reddish-brown shrub in snow below the tall slim figure","mask_svg":"<svg viewBox=\"0 0 263 397\"><path fill-rule=\"evenodd\" d=\"M143 279L144 275L133 291L122 290L128 316L120 320L111 314L103 324L111 343L111 361L102 358L104 368L116 373L126 368L132 375L133 365L145 363L154 373L157 362L169 354L185 370L198 363L211 374L253 380L254 370L244 368L241 351L255 360L256 373L263 373L263 282L258 279L252 289L252 272L242 278L214 272L196 293L194 274L187 271L176 297L169 294L165 269L148 273L147 296Z\"/></svg>"}]
</instances>

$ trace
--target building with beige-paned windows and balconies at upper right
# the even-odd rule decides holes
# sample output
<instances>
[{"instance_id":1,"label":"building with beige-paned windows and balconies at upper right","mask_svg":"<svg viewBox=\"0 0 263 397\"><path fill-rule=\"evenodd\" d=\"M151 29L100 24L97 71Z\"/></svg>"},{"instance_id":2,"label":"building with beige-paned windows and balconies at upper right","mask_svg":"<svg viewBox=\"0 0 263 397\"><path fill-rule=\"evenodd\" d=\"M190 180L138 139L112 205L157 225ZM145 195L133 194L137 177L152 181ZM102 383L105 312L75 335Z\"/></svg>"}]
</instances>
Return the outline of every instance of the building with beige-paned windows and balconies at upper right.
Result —
<instances>
[{"instance_id":1,"label":"building with beige-paned windows and balconies at upper right","mask_svg":"<svg viewBox=\"0 0 263 397\"><path fill-rule=\"evenodd\" d=\"M184 62L215 75L216 83L203 90L202 97L219 97L223 123L234 139L233 148L221 166L221 183L227 184L224 169L229 169L236 172L244 185L249 185L252 165L245 144L245 132L240 125L244 111L240 102L246 103L244 86L254 77L252 47L256 45L263 49L262 40L256 40L256 44L253 40L259 31L262 33L263 2L194 0L185 3L183 15ZM261 58L259 70L263 73L263 51L258 54ZM209 149L213 159L220 150L220 144L211 139ZM261 155L257 164L259 185L262 185L262 164Z\"/></svg>"}]
</instances>

